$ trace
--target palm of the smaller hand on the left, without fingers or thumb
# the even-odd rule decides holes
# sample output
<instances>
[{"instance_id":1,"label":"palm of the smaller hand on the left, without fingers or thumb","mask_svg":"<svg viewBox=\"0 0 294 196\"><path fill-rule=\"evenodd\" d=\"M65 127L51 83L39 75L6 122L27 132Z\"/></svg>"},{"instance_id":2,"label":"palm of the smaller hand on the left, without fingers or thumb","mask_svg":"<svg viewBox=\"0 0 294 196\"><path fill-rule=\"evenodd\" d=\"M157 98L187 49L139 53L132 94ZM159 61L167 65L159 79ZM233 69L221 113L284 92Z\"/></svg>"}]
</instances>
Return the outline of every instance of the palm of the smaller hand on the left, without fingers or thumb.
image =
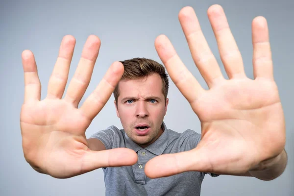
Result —
<instances>
[{"instance_id":1,"label":"palm of the smaller hand on the left, without fingers or thumb","mask_svg":"<svg viewBox=\"0 0 294 196\"><path fill-rule=\"evenodd\" d=\"M24 104L21 112L23 147L31 165L45 166L55 177L83 173L83 156L89 148L85 130L91 121L64 100L45 99L36 104ZM37 138L37 139L36 139ZM58 167L50 167L58 166ZM63 172L60 172L63 168ZM68 175L64 176L64 173Z\"/></svg>"}]
</instances>

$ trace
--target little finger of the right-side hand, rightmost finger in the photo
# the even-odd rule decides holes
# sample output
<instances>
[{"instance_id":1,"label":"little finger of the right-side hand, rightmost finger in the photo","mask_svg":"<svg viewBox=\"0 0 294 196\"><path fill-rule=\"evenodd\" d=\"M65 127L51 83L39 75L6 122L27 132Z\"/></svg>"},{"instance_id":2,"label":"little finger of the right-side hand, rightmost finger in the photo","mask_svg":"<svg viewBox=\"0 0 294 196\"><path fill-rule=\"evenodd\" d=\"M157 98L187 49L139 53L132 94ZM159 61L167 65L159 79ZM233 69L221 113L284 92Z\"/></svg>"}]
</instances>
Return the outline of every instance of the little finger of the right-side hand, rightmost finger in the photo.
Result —
<instances>
[{"instance_id":1,"label":"little finger of the right-side hand, rightmost finger in the photo","mask_svg":"<svg viewBox=\"0 0 294 196\"><path fill-rule=\"evenodd\" d=\"M254 78L264 77L273 80L269 28L264 17L256 17L252 21L252 44Z\"/></svg>"}]
</instances>

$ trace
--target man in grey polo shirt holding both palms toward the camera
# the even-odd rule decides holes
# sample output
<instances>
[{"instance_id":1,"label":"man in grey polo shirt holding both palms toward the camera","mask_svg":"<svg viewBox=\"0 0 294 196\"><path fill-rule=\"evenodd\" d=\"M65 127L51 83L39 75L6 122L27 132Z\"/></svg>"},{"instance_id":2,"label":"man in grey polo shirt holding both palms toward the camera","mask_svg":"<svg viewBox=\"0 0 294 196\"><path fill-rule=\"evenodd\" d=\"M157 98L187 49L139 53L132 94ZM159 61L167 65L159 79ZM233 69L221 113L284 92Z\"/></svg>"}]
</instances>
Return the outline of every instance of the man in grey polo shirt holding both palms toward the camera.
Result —
<instances>
[{"instance_id":1,"label":"man in grey polo shirt holding both palms toward the camera","mask_svg":"<svg viewBox=\"0 0 294 196\"><path fill-rule=\"evenodd\" d=\"M169 103L168 82L164 69L154 61L130 59L113 63L95 91L77 108L90 82L99 39L88 38L63 99L74 38L64 37L48 95L42 101L36 63L33 54L25 50L21 130L27 162L36 171L56 178L103 168L106 195L200 195L205 173L261 180L281 175L287 164L285 120L273 79L266 20L257 17L252 22L251 80L245 76L241 54L221 6L211 6L208 17L228 80L221 74L194 10L185 7L179 13L208 91L183 65L167 37L161 35L155 41L172 81L201 121L201 135L191 130L179 134L163 123ZM142 71L136 73L136 65L146 68L141 61L153 63L155 71L140 76ZM87 127L113 91L123 130L111 126L87 140Z\"/></svg>"}]
</instances>

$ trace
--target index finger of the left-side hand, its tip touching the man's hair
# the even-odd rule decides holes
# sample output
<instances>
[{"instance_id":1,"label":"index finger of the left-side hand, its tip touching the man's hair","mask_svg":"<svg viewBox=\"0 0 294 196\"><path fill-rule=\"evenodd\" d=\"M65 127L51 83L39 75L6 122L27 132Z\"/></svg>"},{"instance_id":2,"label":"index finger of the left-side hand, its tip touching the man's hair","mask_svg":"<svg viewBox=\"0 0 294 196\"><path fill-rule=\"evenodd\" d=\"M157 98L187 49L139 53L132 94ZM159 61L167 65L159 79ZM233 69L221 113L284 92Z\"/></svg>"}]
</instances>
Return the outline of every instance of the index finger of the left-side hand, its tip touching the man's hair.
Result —
<instances>
[{"instance_id":1,"label":"index finger of the left-side hand, its tip touching the man's hair","mask_svg":"<svg viewBox=\"0 0 294 196\"><path fill-rule=\"evenodd\" d=\"M120 62L114 62L110 66L97 88L79 108L84 116L94 119L110 98L123 76L123 71L123 64Z\"/></svg>"}]
</instances>

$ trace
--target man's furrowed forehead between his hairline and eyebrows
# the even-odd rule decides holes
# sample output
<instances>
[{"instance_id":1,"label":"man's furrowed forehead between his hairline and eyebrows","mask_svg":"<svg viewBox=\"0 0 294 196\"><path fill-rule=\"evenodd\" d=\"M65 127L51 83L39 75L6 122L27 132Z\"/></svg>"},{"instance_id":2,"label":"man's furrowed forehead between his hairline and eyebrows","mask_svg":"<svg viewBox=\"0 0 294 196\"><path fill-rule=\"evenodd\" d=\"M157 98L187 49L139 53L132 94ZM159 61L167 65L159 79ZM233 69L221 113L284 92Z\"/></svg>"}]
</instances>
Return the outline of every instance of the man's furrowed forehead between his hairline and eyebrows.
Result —
<instances>
[{"instance_id":1,"label":"man's furrowed forehead between his hairline and eyebrows","mask_svg":"<svg viewBox=\"0 0 294 196\"><path fill-rule=\"evenodd\" d=\"M121 80L119 83L119 99L124 97L163 96L162 79L157 73L140 79Z\"/></svg>"}]
</instances>

